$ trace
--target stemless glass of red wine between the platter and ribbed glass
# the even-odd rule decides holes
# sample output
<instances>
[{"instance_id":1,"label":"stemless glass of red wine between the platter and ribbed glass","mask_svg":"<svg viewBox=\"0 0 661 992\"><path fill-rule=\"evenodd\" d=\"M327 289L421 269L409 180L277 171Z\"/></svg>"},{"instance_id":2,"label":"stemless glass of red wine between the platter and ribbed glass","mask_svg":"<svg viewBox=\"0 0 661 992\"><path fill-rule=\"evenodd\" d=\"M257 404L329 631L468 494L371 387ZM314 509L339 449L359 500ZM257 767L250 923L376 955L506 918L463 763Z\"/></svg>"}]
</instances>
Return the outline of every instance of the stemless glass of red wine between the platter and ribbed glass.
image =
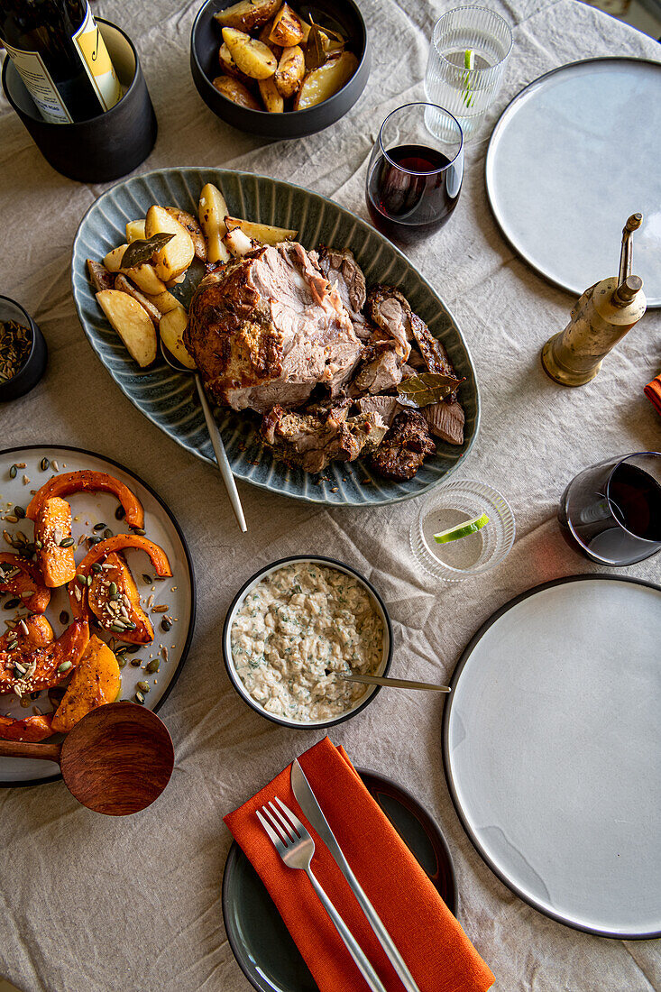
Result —
<instances>
[{"instance_id":1,"label":"stemless glass of red wine between the platter and ribbed glass","mask_svg":"<svg viewBox=\"0 0 661 992\"><path fill-rule=\"evenodd\" d=\"M365 197L382 234L413 244L448 222L463 180L463 132L435 103L407 103L384 120L367 168Z\"/></svg>"}]
</instances>

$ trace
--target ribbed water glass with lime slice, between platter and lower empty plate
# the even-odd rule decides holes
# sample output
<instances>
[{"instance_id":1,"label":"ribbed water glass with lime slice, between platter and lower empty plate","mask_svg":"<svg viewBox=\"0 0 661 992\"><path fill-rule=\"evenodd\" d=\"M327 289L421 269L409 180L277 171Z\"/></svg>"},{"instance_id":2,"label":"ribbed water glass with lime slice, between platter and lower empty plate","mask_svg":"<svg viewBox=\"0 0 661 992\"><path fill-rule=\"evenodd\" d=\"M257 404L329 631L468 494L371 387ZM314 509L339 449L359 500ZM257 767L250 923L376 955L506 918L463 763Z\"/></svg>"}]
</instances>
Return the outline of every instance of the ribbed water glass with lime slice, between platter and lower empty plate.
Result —
<instances>
[{"instance_id":1,"label":"ribbed water glass with lime slice, between platter and lower empty plate","mask_svg":"<svg viewBox=\"0 0 661 992\"><path fill-rule=\"evenodd\" d=\"M439 545L434 534L485 513L488 524L475 534ZM435 578L460 582L499 564L514 544L514 514L505 497L484 482L461 479L439 486L423 501L411 526L411 551Z\"/></svg>"}]
</instances>

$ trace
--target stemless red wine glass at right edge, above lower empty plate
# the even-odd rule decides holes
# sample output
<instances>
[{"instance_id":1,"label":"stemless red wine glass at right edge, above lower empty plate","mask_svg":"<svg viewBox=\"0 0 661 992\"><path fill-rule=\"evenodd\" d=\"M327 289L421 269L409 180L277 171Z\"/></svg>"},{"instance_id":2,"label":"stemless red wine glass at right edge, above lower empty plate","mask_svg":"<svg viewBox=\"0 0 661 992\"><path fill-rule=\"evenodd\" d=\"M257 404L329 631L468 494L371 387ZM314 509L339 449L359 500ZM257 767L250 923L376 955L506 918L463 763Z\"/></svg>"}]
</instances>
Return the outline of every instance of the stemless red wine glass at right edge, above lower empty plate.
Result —
<instances>
[{"instance_id":1,"label":"stemless red wine glass at right edge, above lower empty plate","mask_svg":"<svg viewBox=\"0 0 661 992\"><path fill-rule=\"evenodd\" d=\"M661 453L586 468L563 493L558 520L568 543L598 564L633 564L661 551Z\"/></svg>"}]
</instances>

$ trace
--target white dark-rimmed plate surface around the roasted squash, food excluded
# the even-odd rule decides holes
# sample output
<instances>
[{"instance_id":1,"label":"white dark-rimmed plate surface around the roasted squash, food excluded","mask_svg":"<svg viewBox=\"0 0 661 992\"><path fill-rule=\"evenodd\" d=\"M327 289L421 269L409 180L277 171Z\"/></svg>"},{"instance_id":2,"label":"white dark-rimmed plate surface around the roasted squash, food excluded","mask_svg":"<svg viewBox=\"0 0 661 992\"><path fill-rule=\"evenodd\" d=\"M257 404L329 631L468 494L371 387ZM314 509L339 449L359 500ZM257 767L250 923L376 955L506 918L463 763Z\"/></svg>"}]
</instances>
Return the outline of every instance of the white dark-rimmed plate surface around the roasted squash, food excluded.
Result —
<instances>
[{"instance_id":1,"label":"white dark-rimmed plate surface around the roasted squash, food excluded","mask_svg":"<svg viewBox=\"0 0 661 992\"><path fill-rule=\"evenodd\" d=\"M160 545L170 559L173 577L155 579L152 563L144 553L131 550L127 552L127 560L136 580L143 608L146 605L145 600L149 598L153 590L154 605L167 604L169 607L167 615L173 619L173 623L169 631L164 631L161 622L165 614L150 613L150 619L154 626L154 642L141 648L139 652L126 656L126 665L121 672L120 698L133 699L136 683L146 681L150 683L151 687L145 695L145 705L150 709L158 710L179 677L193 638L196 591L193 563L186 539L172 513L159 496L128 469L123 468L110 458L93 454L91 451L81 451L76 448L53 444L15 447L0 451L0 529L6 530L12 535L17 531L22 531L29 540L32 540L34 526L32 521L19 520L17 524L14 524L6 522L4 518L7 514L14 515L13 508L15 506L25 509L32 499L31 491L36 491L45 482L48 482L54 474L58 474L52 465L46 471L41 470L40 463L44 457L48 458L50 462L55 459L61 473L92 469L107 472L124 482L136 494L144 507L145 537ZM10 476L11 466L21 462L25 462L26 467L19 467L15 478L12 479ZM30 481L24 482L24 477ZM96 536L101 536L99 532L92 531L94 524L98 523L107 524L113 534L123 534L128 531L128 528L115 518L115 510L119 504L112 494L74 493L66 498L71 504L73 516L71 531L76 543L81 534L95 533ZM2 551L12 552L12 550L3 540ZM82 546L75 553L76 561L81 560L85 554L86 548ZM151 583L146 582L143 575L152 578L153 581ZM9 595L0 595L2 606L7 601L11 601ZM63 610L70 614L66 589L54 589L46 617L52 624L56 637L59 637L66 627L66 623L60 620L60 614ZM0 609L0 627L2 628L0 633L4 633L6 629L4 622L1 621L10 619L16 612L14 609L7 611ZM25 614L25 610L19 609L18 613L19 615ZM175 620L175 618L177 619ZM98 630L94 630L94 633L101 637ZM103 635L103 640L107 641L109 638ZM116 642L116 646L119 647L121 643L123 642ZM167 649L167 660L163 657L163 649ZM146 665L152 658L160 659L159 671L153 674L145 671ZM135 659L141 660L140 667L131 665L131 660ZM31 706L28 708L23 708L13 694L0 696L0 713L3 715L9 714L19 718L30 716L32 705L38 706L43 712L50 712L52 707L49 703L48 692L44 691L40 698L31 700ZM0 758L0 787L36 785L59 777L58 766L51 761Z\"/></svg>"}]
</instances>

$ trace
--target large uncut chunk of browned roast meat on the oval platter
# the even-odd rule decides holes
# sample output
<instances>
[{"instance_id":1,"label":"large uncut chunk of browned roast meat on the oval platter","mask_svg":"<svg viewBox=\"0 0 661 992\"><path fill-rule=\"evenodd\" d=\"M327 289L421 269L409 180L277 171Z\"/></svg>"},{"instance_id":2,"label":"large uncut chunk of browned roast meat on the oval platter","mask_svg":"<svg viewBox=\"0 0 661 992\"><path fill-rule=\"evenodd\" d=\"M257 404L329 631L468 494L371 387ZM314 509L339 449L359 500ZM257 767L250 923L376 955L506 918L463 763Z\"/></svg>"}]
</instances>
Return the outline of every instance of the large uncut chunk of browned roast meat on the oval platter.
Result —
<instances>
[{"instance_id":1,"label":"large uncut chunk of browned roast meat on the oval platter","mask_svg":"<svg viewBox=\"0 0 661 992\"><path fill-rule=\"evenodd\" d=\"M336 288L296 242L234 259L202 281L186 346L221 406L300 406L318 384L335 395L362 352Z\"/></svg>"}]
</instances>

